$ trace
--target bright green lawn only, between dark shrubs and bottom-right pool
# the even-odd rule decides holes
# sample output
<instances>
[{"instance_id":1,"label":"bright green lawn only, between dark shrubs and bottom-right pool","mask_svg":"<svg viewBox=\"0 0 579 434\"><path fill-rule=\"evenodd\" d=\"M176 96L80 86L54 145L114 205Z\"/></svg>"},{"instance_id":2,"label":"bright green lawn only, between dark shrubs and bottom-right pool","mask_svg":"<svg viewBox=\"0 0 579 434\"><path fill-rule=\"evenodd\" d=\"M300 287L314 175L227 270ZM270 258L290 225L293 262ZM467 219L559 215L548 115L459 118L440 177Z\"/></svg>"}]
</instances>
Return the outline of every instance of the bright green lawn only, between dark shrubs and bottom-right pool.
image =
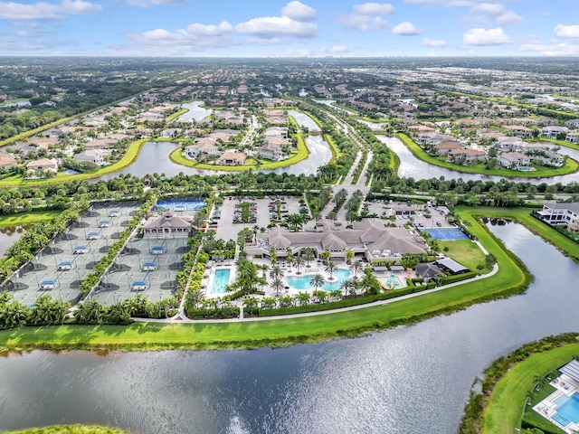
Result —
<instances>
[{"instance_id":1,"label":"bright green lawn only, between dark shrubs and bottom-right pool","mask_svg":"<svg viewBox=\"0 0 579 434\"><path fill-rule=\"evenodd\" d=\"M518 428L527 392L535 387L534 377L543 377L559 366L573 359L579 353L579 344L568 344L532 354L521 363L517 363L495 386L485 411L483 433L514 433Z\"/></svg>"}]
</instances>

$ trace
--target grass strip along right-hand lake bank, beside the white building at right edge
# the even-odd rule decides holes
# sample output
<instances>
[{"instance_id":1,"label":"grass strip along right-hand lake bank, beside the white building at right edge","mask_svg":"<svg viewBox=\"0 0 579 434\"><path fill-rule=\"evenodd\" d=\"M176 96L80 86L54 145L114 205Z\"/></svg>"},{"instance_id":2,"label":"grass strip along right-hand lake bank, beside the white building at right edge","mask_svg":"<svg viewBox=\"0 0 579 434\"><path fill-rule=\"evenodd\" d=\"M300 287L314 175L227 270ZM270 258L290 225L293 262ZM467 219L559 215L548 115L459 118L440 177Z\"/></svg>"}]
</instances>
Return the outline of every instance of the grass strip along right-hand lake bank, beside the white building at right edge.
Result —
<instances>
[{"instance_id":1,"label":"grass strip along right-hand lake bank, beside the white building at right edge","mask_svg":"<svg viewBox=\"0 0 579 434\"><path fill-rule=\"evenodd\" d=\"M462 216L463 211L470 213L472 208L468 207L457 207L455 212ZM573 240L568 239L561 232L556 231L554 228L549 226L544 222L540 222L535 217L531 215L531 211L528 208L493 208L493 207L479 207L476 209L477 214L498 219L508 219L513 222L518 222L527 227L527 229L536 235L540 236L544 240L553 244L557 250L560 250L565 256L573 259L575 262L579 262L579 244Z\"/></svg>"}]
</instances>

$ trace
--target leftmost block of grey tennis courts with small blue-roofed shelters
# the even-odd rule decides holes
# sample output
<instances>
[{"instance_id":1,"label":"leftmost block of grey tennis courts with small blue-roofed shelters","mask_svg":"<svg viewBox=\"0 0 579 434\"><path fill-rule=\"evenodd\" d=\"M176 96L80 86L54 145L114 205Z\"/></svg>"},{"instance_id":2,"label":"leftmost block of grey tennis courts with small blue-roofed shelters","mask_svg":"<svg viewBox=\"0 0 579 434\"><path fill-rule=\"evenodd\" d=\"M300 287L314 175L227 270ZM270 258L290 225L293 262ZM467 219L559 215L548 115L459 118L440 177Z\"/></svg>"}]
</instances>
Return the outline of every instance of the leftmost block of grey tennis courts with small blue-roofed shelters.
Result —
<instances>
[{"instance_id":1,"label":"leftmost block of grey tennis courts with small blue-roofed shelters","mask_svg":"<svg viewBox=\"0 0 579 434\"><path fill-rule=\"evenodd\" d=\"M94 269L109 246L119 239L140 203L98 203L52 240L10 279L5 290L32 305L36 298L79 301L81 281Z\"/></svg>"}]
</instances>

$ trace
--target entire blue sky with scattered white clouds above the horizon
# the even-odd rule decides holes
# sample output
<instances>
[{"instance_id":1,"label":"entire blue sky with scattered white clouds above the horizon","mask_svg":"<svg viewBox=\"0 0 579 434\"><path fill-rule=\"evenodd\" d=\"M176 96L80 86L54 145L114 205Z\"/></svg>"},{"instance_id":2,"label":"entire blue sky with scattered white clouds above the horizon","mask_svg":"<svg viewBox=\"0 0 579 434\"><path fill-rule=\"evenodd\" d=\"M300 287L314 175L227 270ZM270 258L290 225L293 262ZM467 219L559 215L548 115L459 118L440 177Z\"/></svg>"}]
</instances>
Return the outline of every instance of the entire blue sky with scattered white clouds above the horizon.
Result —
<instances>
[{"instance_id":1,"label":"entire blue sky with scattered white clouds above the horizon","mask_svg":"<svg viewBox=\"0 0 579 434\"><path fill-rule=\"evenodd\" d=\"M579 56L579 0L0 1L0 55Z\"/></svg>"}]
</instances>

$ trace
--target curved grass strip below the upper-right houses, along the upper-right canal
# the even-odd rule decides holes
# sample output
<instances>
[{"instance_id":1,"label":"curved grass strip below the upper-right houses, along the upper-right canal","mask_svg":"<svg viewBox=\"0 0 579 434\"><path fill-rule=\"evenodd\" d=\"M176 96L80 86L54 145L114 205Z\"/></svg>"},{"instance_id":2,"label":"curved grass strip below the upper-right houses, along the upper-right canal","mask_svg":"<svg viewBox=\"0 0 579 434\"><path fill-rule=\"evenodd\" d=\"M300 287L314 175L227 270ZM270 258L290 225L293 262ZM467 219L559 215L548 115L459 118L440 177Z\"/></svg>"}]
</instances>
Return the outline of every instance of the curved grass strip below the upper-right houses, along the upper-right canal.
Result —
<instances>
[{"instance_id":1,"label":"curved grass strip below the upper-right houses, along the upper-right canal","mask_svg":"<svg viewBox=\"0 0 579 434\"><path fill-rule=\"evenodd\" d=\"M412 138L406 136L403 133L396 135L399 137L403 144L410 149L413 156L422 160L429 165L438 165L439 167L444 167L446 169L455 170L457 172L462 172L465 174L481 174L481 175L497 175L497 176L508 176L508 177L520 177L520 178L541 178L547 176L559 176L573 174L579 170L579 163L577 163L573 158L567 157L565 165L556 169L539 167L534 172L519 172L510 169L485 169L483 165L469 166L469 165L455 165L448 161L441 161L440 159L429 156L422 147L418 146Z\"/></svg>"}]
</instances>

